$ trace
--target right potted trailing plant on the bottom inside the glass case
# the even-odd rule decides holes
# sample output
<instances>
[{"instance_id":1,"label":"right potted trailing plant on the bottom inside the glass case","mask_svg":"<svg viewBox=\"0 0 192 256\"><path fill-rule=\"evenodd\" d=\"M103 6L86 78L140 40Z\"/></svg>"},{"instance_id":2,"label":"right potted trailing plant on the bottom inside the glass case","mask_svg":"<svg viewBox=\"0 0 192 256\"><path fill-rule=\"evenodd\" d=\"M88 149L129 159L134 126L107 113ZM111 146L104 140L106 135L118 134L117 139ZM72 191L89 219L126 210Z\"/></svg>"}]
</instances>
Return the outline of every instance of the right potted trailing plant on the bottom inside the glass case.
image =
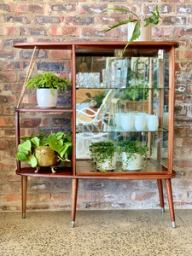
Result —
<instances>
[{"instance_id":1,"label":"right potted trailing plant on the bottom inside the glass case","mask_svg":"<svg viewBox=\"0 0 192 256\"><path fill-rule=\"evenodd\" d=\"M121 141L118 152L122 155L122 167L125 171L139 171L148 160L148 146L139 145L137 141Z\"/></svg>"}]
</instances>

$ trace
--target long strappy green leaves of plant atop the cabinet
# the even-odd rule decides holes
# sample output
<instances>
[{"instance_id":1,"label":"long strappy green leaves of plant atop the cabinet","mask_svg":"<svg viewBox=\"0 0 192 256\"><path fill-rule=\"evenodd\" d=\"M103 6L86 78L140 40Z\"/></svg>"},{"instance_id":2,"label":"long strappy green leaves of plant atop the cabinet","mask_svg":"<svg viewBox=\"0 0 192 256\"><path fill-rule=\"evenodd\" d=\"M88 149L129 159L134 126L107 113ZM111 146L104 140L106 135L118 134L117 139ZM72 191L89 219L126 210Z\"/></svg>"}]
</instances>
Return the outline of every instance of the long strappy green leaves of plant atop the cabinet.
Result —
<instances>
[{"instance_id":1,"label":"long strappy green leaves of plant atop the cabinet","mask_svg":"<svg viewBox=\"0 0 192 256\"><path fill-rule=\"evenodd\" d=\"M139 38L139 36L141 35L141 21L139 19L139 17L137 16L136 13L128 10L128 9L121 9L121 8L109 8L109 10L118 10L118 11L122 11L122 12L125 12L127 14L130 14L130 15L133 15L133 18L129 17L127 20L123 20L123 21L119 21L118 23L116 23L115 25L113 26L109 26L107 29L103 30L103 32L108 32L118 26L122 26L122 25L125 25L125 24L128 24L128 23L135 23L135 27L134 27L134 30L132 32L132 36L131 36L131 39L130 41L125 45L125 49L126 47L131 43L133 42L134 40L136 40L137 38ZM157 25L159 22L160 22L160 12L159 12L159 8L158 6L156 6L156 13L151 11L150 12L150 16L147 17L147 18L144 18L143 21L145 21L145 25L144 26L148 26L149 24L154 24L154 25ZM124 50L125 50L124 49Z\"/></svg>"}]
</instances>

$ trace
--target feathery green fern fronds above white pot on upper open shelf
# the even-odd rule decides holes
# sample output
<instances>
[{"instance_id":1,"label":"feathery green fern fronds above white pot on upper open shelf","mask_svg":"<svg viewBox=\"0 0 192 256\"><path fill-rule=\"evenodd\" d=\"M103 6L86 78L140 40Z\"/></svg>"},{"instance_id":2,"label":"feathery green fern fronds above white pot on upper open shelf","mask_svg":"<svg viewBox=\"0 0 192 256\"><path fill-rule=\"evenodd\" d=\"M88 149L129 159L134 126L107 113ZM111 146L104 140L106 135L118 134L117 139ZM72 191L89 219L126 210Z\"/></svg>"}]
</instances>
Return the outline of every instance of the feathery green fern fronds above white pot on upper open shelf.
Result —
<instances>
[{"instance_id":1,"label":"feathery green fern fronds above white pot on upper open shelf","mask_svg":"<svg viewBox=\"0 0 192 256\"><path fill-rule=\"evenodd\" d=\"M32 79L28 81L26 87L29 90L34 90L35 88L47 88L51 90L54 95L54 89L58 89L61 93L64 93L68 89L68 86L72 83L66 78L59 78L54 73L45 72L43 74L37 74L32 76Z\"/></svg>"}]
</instances>

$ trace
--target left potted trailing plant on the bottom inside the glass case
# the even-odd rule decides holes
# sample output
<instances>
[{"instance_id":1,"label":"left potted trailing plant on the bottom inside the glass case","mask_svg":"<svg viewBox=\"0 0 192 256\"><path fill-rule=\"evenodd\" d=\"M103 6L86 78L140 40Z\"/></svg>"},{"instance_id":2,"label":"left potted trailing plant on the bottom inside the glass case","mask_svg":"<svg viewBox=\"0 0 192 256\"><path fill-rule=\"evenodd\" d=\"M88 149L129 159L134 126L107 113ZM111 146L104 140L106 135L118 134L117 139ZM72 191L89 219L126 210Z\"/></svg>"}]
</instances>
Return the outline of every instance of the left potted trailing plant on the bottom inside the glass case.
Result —
<instances>
[{"instance_id":1,"label":"left potted trailing plant on the bottom inside the glass case","mask_svg":"<svg viewBox=\"0 0 192 256\"><path fill-rule=\"evenodd\" d=\"M91 164L100 172L113 171L116 166L115 145L102 141L90 144Z\"/></svg>"}]
</instances>

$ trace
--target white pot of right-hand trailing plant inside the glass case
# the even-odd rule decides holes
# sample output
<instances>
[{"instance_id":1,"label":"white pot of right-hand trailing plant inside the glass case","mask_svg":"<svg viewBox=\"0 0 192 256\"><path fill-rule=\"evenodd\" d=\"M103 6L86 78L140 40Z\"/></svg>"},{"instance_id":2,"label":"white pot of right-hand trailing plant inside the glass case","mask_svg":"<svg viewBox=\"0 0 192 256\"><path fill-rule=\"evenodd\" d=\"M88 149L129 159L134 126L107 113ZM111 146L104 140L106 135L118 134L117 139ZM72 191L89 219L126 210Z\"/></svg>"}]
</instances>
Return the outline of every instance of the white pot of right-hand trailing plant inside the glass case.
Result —
<instances>
[{"instance_id":1,"label":"white pot of right-hand trailing plant inside the glass case","mask_svg":"<svg viewBox=\"0 0 192 256\"><path fill-rule=\"evenodd\" d=\"M123 169L125 171L139 171L143 169L144 162L141 154L133 154L131 159L127 159L125 152L122 153Z\"/></svg>"}]
</instances>

